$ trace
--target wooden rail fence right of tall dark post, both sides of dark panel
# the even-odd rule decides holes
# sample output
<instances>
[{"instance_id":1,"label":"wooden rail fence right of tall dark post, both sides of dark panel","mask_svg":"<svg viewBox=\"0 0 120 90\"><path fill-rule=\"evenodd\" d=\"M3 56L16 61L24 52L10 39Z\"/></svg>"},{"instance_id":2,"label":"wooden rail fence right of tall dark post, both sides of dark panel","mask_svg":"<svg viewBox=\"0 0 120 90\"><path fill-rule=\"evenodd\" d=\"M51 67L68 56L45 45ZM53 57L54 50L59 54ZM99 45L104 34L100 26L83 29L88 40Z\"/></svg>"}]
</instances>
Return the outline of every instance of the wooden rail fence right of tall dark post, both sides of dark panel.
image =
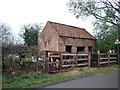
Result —
<instances>
[{"instance_id":1,"label":"wooden rail fence right of tall dark post, both sides of dark panel","mask_svg":"<svg viewBox=\"0 0 120 90\"><path fill-rule=\"evenodd\" d=\"M98 66L103 64L117 63L117 54L116 53L100 53L97 54ZM48 68L53 68L51 70L62 69L65 67L78 67L78 66L91 66L91 54L90 53L59 53L52 54L48 56ZM48 69L47 69L48 70ZM48 72L49 72L48 70Z\"/></svg>"}]
</instances>

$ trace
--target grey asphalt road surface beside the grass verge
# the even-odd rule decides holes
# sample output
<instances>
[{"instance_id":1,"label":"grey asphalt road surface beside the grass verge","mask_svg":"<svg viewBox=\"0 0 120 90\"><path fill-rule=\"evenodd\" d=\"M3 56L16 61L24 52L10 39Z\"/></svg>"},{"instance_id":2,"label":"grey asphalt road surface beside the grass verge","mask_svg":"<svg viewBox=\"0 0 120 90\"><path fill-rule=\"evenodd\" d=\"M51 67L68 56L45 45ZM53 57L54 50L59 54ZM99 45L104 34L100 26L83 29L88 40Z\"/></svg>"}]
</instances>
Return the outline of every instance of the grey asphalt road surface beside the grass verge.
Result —
<instances>
[{"instance_id":1,"label":"grey asphalt road surface beside the grass verge","mask_svg":"<svg viewBox=\"0 0 120 90\"><path fill-rule=\"evenodd\" d=\"M118 72L97 74L54 84L45 88L118 88Z\"/></svg>"}]
</instances>

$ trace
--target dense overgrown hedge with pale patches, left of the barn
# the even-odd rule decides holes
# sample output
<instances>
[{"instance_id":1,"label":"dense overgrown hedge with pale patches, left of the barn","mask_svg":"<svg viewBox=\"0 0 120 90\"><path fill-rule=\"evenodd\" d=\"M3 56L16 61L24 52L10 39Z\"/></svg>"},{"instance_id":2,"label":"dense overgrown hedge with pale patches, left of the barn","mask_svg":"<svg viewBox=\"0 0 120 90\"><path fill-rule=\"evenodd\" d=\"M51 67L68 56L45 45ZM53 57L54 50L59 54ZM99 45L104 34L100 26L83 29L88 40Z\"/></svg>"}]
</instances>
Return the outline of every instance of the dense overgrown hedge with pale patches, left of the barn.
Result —
<instances>
[{"instance_id":1,"label":"dense overgrown hedge with pale patches, left of the barn","mask_svg":"<svg viewBox=\"0 0 120 90\"><path fill-rule=\"evenodd\" d=\"M24 46L19 49L17 47L17 51L15 50L16 47L3 48L3 72L36 69L37 64L32 64L32 62L33 60L37 62L38 58L42 56L37 46Z\"/></svg>"}]
</instances>

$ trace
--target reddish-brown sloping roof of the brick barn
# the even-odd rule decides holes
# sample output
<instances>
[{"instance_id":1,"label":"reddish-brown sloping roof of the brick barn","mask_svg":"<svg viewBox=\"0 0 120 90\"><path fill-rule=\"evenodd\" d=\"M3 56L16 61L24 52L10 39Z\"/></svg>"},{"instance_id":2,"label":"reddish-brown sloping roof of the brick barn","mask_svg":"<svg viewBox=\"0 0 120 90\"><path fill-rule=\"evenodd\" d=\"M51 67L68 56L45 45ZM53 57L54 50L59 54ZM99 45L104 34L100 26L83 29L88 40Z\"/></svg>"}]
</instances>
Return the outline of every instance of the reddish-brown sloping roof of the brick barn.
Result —
<instances>
[{"instance_id":1,"label":"reddish-brown sloping roof of the brick barn","mask_svg":"<svg viewBox=\"0 0 120 90\"><path fill-rule=\"evenodd\" d=\"M51 21L49 21L49 23L60 36L96 39L84 28L74 27L74 26L51 22Z\"/></svg>"}]
</instances>

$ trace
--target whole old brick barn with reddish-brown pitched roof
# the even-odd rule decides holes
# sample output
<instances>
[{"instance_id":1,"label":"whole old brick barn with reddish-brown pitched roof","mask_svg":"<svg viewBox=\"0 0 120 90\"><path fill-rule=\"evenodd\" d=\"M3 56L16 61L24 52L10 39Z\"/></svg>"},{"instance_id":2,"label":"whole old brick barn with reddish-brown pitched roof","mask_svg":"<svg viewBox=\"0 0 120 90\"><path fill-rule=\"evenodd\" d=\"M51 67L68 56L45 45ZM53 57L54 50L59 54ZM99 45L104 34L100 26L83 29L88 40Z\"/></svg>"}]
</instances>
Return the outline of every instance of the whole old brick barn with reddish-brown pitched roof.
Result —
<instances>
[{"instance_id":1,"label":"whole old brick barn with reddish-brown pitched roof","mask_svg":"<svg viewBox=\"0 0 120 90\"><path fill-rule=\"evenodd\" d=\"M38 44L42 51L57 52L92 52L95 40L83 28L48 21L41 32Z\"/></svg>"}]
</instances>

